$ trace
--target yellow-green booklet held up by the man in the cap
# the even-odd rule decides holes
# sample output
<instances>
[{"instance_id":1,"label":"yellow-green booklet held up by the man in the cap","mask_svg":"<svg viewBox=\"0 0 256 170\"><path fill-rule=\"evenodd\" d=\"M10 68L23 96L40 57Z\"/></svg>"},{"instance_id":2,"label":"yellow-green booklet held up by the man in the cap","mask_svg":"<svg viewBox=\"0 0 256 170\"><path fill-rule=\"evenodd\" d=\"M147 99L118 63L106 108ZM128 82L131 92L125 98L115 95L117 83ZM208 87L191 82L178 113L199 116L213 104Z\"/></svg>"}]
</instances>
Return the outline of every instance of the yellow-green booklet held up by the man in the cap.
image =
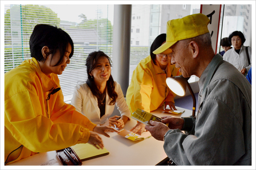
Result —
<instances>
[{"instance_id":1,"label":"yellow-green booklet held up by the man in the cap","mask_svg":"<svg viewBox=\"0 0 256 170\"><path fill-rule=\"evenodd\" d=\"M142 109L137 109L132 113L132 118L140 123L144 123L145 125L150 125L150 120L161 122L161 117L148 113Z\"/></svg>"}]
</instances>

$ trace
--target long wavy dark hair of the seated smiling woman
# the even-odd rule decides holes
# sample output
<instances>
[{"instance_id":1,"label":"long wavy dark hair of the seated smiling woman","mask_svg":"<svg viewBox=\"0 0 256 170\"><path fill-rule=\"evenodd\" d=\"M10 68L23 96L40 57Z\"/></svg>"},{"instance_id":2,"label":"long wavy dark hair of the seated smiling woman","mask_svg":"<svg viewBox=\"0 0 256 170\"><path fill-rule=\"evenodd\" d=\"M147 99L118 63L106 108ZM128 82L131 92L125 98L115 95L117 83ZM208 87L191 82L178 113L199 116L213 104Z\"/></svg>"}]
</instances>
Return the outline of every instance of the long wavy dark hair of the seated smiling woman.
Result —
<instances>
[{"instance_id":1,"label":"long wavy dark hair of the seated smiling woman","mask_svg":"<svg viewBox=\"0 0 256 170\"><path fill-rule=\"evenodd\" d=\"M106 57L109 63L111 61L111 59L102 51L94 51L90 53L86 59L86 69L88 74L88 79L86 80L86 83L88 84L90 90L92 91L92 94L97 98L100 98L100 91L96 87L94 78L90 76L90 72L92 72L92 70L96 67L98 59L100 57ZM111 63L110 63L110 66L112 66ZM114 79L112 75L110 75L106 84L106 87L108 88L108 96L112 99L110 101L110 105L114 105L116 103L116 98L118 97L117 93L115 92L115 86L116 84L114 82Z\"/></svg>"}]
</instances>

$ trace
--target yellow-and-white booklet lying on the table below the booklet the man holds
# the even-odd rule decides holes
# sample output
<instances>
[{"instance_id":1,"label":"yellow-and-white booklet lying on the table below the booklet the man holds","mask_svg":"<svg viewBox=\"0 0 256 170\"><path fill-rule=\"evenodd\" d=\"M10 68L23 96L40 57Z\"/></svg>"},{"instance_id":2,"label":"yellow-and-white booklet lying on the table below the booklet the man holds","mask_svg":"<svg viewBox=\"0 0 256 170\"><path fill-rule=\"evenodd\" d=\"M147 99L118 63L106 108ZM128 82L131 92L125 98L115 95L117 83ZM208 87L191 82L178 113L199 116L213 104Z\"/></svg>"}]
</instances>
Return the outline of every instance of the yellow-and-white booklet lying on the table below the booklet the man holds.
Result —
<instances>
[{"instance_id":1,"label":"yellow-and-white booklet lying on the table below the booklet the man holds","mask_svg":"<svg viewBox=\"0 0 256 170\"><path fill-rule=\"evenodd\" d=\"M125 137L127 139L130 139L132 141L138 141L138 140L144 140L144 139L148 139L151 137L151 134L149 131L144 131L142 133L142 135L138 135L136 133L133 133L131 131L128 131L126 129L122 129L119 133L117 133L118 135L121 135L122 137Z\"/></svg>"}]
</instances>

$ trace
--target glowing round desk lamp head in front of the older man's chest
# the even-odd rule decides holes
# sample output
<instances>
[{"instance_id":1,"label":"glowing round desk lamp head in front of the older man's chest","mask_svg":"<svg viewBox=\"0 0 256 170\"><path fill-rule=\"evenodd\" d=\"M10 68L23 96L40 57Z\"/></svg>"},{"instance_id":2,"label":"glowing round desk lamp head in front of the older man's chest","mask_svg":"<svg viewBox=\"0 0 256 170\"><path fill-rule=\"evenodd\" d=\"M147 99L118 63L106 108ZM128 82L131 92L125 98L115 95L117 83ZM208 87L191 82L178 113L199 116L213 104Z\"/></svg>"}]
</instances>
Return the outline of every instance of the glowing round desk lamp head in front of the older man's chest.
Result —
<instances>
[{"instance_id":1,"label":"glowing round desk lamp head in front of the older man's chest","mask_svg":"<svg viewBox=\"0 0 256 170\"><path fill-rule=\"evenodd\" d=\"M174 76L166 78L166 84L178 96L185 96L188 78Z\"/></svg>"}]
</instances>

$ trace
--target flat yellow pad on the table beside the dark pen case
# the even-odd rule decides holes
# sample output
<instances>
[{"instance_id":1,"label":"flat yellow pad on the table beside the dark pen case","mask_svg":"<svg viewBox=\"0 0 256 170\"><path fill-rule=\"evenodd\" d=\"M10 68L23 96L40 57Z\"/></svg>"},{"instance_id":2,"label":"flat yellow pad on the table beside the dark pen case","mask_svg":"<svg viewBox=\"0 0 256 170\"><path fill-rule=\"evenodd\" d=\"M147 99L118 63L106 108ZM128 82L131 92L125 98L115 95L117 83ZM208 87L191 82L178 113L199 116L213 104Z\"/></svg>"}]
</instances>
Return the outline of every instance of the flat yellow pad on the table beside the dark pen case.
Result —
<instances>
[{"instance_id":1,"label":"flat yellow pad on the table beside the dark pen case","mask_svg":"<svg viewBox=\"0 0 256 170\"><path fill-rule=\"evenodd\" d=\"M98 158L100 156L108 155L109 152L106 148L97 149L89 143L79 143L71 147L80 158L81 161Z\"/></svg>"}]
</instances>

